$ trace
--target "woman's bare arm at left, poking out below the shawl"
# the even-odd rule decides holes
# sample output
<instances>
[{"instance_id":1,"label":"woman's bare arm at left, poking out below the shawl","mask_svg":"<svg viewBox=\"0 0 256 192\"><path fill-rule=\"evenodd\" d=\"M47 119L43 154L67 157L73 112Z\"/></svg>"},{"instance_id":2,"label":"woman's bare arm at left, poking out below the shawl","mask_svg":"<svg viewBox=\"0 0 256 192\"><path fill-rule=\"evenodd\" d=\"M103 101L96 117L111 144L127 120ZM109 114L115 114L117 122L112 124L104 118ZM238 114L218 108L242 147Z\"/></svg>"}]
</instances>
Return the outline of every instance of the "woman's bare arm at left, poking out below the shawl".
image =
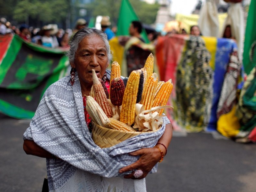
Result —
<instances>
[{"instance_id":1,"label":"woman's bare arm at left, poking out below the shawl","mask_svg":"<svg viewBox=\"0 0 256 192\"><path fill-rule=\"evenodd\" d=\"M35 155L43 158L56 158L48 151L36 145L33 140L24 140L23 150L26 152L27 155Z\"/></svg>"}]
</instances>

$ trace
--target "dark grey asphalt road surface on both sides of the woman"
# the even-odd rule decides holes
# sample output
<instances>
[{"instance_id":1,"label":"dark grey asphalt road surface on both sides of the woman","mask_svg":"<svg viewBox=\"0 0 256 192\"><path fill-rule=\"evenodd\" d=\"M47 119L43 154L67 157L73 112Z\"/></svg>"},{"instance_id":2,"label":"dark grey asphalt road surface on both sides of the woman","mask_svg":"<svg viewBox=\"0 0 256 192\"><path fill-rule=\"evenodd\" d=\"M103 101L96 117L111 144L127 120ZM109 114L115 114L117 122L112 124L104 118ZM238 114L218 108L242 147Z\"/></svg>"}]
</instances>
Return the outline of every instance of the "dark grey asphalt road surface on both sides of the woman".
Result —
<instances>
[{"instance_id":1,"label":"dark grey asphalt road surface on both sides of the woman","mask_svg":"<svg viewBox=\"0 0 256 192\"><path fill-rule=\"evenodd\" d=\"M0 191L41 192L44 158L26 155L28 120L0 115ZM218 133L174 134L147 192L255 192L256 144L239 144Z\"/></svg>"}]
</instances>

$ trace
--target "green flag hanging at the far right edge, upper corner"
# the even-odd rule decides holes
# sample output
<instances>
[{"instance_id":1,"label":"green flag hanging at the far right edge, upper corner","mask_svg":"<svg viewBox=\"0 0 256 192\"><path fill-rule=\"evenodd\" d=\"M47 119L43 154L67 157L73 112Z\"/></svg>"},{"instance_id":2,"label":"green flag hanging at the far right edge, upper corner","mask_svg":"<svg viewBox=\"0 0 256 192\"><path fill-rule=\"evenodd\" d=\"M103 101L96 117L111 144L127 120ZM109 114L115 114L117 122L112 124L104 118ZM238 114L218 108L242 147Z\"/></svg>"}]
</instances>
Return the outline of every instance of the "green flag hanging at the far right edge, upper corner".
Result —
<instances>
[{"instance_id":1,"label":"green flag hanging at the far right edge, upper corner","mask_svg":"<svg viewBox=\"0 0 256 192\"><path fill-rule=\"evenodd\" d=\"M256 1L252 0L247 17L244 38L243 64L244 71L248 75L256 65Z\"/></svg>"}]
</instances>

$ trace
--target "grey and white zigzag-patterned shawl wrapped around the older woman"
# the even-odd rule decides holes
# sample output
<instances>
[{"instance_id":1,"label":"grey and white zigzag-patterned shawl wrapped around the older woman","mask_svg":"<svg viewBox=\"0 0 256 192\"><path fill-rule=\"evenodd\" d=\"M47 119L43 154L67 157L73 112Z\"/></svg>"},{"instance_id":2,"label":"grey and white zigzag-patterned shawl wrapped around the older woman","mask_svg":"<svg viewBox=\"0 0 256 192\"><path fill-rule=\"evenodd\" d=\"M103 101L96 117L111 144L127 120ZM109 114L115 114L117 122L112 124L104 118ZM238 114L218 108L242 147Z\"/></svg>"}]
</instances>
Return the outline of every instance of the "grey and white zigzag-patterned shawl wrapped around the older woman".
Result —
<instances>
[{"instance_id":1,"label":"grey and white zigzag-patterned shawl wrapped around the older woman","mask_svg":"<svg viewBox=\"0 0 256 192\"><path fill-rule=\"evenodd\" d=\"M110 71L107 70L107 78ZM76 73L52 84L44 93L24 133L60 159L46 159L49 191L146 191L145 179L124 179L118 170L139 157L127 155L140 148L153 147L170 121L158 132L143 133L113 147L101 149L92 140L85 123L82 92ZM151 170L156 172L157 165Z\"/></svg>"}]
</instances>

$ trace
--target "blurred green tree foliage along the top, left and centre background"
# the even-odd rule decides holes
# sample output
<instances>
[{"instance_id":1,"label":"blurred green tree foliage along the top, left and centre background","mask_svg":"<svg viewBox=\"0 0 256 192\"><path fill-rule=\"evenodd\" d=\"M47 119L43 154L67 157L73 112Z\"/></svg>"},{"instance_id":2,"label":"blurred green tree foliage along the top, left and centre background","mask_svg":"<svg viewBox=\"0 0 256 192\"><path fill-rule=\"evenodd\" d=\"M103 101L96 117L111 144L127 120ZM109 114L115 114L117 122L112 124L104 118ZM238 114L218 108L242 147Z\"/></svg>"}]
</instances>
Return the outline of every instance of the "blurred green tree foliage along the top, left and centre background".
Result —
<instances>
[{"instance_id":1,"label":"blurred green tree foliage along the top, left and centre background","mask_svg":"<svg viewBox=\"0 0 256 192\"><path fill-rule=\"evenodd\" d=\"M71 1L75 3L71 5ZM159 4L147 4L141 0L129 0L142 23L153 24L156 20ZM121 0L94 0L90 4L80 4L81 0L0 0L0 16L18 23L73 22L79 7L87 10L87 18L108 15L112 25L116 25Z\"/></svg>"}]
</instances>

